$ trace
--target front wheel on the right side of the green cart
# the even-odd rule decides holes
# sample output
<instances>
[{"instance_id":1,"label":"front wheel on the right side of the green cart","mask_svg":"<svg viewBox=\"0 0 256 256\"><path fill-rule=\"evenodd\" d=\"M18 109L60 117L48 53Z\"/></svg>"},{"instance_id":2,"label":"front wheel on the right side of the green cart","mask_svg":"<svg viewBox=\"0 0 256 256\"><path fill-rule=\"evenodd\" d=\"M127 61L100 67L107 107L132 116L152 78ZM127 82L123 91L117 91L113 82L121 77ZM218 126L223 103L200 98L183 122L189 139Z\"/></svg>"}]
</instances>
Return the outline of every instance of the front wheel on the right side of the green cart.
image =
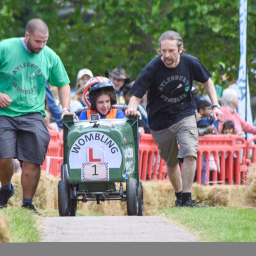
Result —
<instances>
[{"instance_id":1,"label":"front wheel on the right side of the green cart","mask_svg":"<svg viewBox=\"0 0 256 256\"><path fill-rule=\"evenodd\" d=\"M127 197L127 214L138 215L138 196L137 196L137 180L130 178L127 181L126 189Z\"/></svg>"}]
</instances>

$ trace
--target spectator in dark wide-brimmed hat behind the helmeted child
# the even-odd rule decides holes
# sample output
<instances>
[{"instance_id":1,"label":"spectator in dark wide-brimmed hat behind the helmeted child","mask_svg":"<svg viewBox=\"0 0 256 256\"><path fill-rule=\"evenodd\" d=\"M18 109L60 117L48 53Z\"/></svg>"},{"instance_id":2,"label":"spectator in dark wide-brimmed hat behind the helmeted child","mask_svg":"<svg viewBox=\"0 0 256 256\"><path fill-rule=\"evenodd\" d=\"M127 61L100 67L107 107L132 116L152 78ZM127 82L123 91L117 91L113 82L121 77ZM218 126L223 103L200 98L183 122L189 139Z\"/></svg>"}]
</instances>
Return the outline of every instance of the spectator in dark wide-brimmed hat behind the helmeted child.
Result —
<instances>
[{"instance_id":1,"label":"spectator in dark wide-brimmed hat behind the helmeted child","mask_svg":"<svg viewBox=\"0 0 256 256\"><path fill-rule=\"evenodd\" d=\"M109 72L109 70L107 70L105 72L105 75L112 81L112 83L115 86L117 103L124 104L125 99L124 93L122 92L122 88L125 84L129 83L129 75L125 73L125 70L122 67L116 67L115 69L113 69L112 72Z\"/></svg>"}]
</instances>

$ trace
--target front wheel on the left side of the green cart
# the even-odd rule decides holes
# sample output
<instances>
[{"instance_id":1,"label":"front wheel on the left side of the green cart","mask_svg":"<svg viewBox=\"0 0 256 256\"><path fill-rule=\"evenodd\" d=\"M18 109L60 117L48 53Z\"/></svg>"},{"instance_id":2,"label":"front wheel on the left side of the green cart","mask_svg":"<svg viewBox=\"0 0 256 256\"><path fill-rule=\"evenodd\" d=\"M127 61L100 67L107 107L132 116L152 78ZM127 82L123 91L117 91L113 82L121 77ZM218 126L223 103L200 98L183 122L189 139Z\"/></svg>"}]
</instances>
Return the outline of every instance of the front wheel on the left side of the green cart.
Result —
<instances>
[{"instance_id":1,"label":"front wheel on the left side of the green cart","mask_svg":"<svg viewBox=\"0 0 256 256\"><path fill-rule=\"evenodd\" d=\"M60 216L69 216L69 188L67 180L60 180L58 184L58 204Z\"/></svg>"}]
</instances>

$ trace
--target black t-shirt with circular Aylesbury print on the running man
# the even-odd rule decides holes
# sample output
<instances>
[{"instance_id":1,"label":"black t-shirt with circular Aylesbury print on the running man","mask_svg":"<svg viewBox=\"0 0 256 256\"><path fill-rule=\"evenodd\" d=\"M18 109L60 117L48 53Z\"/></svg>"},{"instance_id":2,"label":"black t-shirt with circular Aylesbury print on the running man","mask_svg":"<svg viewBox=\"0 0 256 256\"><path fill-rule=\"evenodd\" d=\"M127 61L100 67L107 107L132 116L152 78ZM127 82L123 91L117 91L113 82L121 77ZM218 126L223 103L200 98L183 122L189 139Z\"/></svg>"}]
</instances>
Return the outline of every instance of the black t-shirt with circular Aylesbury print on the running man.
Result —
<instances>
[{"instance_id":1,"label":"black t-shirt with circular Aylesbury print on the running man","mask_svg":"<svg viewBox=\"0 0 256 256\"><path fill-rule=\"evenodd\" d=\"M148 91L148 124L150 129L161 131L195 115L193 80L205 83L210 76L207 68L189 54L180 54L175 68L166 67L158 56L141 70L129 93L142 98Z\"/></svg>"}]
</instances>

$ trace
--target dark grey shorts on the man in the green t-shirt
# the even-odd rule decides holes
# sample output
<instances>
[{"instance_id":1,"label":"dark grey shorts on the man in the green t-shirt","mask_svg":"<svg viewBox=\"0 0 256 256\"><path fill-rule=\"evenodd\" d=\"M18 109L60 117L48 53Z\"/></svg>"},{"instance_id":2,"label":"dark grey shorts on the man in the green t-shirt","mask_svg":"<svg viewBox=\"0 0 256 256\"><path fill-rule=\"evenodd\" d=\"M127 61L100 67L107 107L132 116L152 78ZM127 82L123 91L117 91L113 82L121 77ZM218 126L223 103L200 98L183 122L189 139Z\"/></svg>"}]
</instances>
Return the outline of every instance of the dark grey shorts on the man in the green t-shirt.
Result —
<instances>
[{"instance_id":1,"label":"dark grey shorts on the man in the green t-shirt","mask_svg":"<svg viewBox=\"0 0 256 256\"><path fill-rule=\"evenodd\" d=\"M50 134L40 113L0 116L0 159L43 164Z\"/></svg>"}]
</instances>

